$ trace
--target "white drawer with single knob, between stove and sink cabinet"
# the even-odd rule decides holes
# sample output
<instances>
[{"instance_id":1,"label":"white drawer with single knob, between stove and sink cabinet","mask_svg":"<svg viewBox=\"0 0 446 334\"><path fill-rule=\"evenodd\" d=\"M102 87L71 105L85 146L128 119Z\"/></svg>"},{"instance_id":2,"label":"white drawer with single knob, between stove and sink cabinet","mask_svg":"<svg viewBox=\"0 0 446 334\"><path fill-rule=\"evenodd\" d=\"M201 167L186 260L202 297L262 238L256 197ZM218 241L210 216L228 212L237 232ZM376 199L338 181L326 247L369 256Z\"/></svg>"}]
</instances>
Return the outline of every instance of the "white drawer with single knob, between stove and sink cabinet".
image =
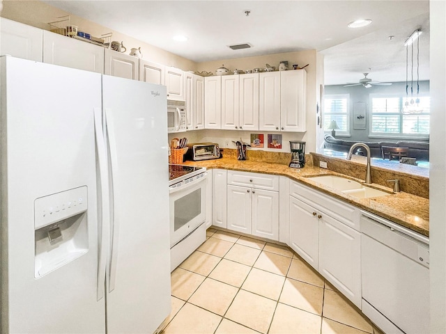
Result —
<instances>
[{"instance_id":1,"label":"white drawer with single knob, between stove and sink cabinet","mask_svg":"<svg viewBox=\"0 0 446 334\"><path fill-rule=\"evenodd\" d=\"M228 184L252 186L256 189L279 191L279 175L228 170Z\"/></svg>"}]
</instances>

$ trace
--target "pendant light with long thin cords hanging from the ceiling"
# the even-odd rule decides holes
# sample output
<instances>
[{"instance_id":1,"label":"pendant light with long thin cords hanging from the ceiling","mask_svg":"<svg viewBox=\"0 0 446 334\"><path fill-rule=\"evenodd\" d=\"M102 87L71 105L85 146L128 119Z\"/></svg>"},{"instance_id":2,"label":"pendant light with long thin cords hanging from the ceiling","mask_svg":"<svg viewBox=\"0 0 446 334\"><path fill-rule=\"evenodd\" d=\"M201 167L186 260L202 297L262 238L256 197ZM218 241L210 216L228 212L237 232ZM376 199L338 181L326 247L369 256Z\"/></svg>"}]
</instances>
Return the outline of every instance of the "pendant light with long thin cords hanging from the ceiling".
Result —
<instances>
[{"instance_id":1,"label":"pendant light with long thin cords hanging from the ceiling","mask_svg":"<svg viewBox=\"0 0 446 334\"><path fill-rule=\"evenodd\" d=\"M420 106L420 35L422 31L420 29L415 30L412 35L406 40L404 45L406 46L406 101L404 102L401 113L409 115L413 113L422 113L423 108ZM417 40L417 95L415 100L413 99L413 42ZM408 53L410 47L410 100L409 100L409 81L408 81Z\"/></svg>"}]
</instances>

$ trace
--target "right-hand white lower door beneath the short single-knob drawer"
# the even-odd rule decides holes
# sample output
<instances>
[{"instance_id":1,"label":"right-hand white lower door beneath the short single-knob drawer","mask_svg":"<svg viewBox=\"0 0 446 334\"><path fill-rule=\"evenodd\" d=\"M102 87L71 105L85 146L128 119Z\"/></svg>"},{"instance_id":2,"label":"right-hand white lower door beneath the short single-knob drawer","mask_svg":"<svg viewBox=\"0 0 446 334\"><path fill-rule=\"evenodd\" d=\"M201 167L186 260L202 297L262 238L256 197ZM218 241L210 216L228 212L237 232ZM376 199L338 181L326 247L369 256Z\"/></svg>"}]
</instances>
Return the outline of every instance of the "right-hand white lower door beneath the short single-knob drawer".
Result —
<instances>
[{"instance_id":1,"label":"right-hand white lower door beneath the short single-knob drawer","mask_svg":"<svg viewBox=\"0 0 446 334\"><path fill-rule=\"evenodd\" d=\"M277 191L252 189L252 234L279 240L279 193Z\"/></svg>"}]
</instances>

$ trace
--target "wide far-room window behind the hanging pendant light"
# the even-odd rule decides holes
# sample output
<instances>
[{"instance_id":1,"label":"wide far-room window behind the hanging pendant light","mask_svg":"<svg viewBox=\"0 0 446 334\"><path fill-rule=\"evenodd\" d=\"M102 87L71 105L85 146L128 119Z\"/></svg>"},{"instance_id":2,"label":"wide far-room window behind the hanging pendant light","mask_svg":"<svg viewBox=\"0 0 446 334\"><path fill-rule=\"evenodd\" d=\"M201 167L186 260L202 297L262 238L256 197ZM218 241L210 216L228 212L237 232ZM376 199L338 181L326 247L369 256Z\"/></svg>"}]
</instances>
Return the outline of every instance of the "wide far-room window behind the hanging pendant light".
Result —
<instances>
[{"instance_id":1,"label":"wide far-room window behind the hanging pendant light","mask_svg":"<svg viewBox=\"0 0 446 334\"><path fill-rule=\"evenodd\" d=\"M394 138L429 137L430 97L420 97L421 113L401 113L405 103L406 97L371 95L370 134Z\"/></svg>"}]
</instances>

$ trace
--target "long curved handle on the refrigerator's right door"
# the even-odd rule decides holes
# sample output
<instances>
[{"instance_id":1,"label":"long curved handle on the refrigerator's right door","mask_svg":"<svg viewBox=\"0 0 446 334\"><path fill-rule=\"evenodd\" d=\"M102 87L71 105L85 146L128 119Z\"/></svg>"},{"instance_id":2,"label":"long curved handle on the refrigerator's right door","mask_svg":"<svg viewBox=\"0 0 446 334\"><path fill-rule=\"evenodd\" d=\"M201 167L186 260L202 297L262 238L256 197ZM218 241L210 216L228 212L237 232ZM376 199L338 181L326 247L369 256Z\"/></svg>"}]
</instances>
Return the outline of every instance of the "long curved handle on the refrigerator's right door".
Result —
<instances>
[{"instance_id":1,"label":"long curved handle on the refrigerator's right door","mask_svg":"<svg viewBox=\"0 0 446 334\"><path fill-rule=\"evenodd\" d=\"M109 292L114 290L116 284L116 266L118 261L118 235L119 235L119 217L114 207L116 205L116 198L114 196L114 189L116 188L116 178L114 173L118 170L118 157L116 155L116 136L114 133L113 115L111 109L105 109L105 129L107 134L107 142L109 146L109 186L110 186L110 230L111 242L110 245L110 259L109 259Z\"/></svg>"}]
</instances>

